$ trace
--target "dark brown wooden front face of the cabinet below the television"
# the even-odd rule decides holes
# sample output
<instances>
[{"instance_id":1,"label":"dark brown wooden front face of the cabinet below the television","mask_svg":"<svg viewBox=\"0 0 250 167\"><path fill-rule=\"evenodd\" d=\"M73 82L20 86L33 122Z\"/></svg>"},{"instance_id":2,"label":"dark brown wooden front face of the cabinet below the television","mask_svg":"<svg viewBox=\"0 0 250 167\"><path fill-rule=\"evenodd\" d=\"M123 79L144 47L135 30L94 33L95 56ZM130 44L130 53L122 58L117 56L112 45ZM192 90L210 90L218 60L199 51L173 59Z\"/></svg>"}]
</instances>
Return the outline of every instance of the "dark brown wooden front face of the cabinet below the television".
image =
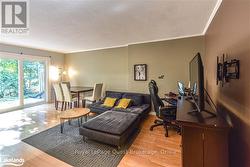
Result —
<instances>
[{"instance_id":1,"label":"dark brown wooden front face of the cabinet below the television","mask_svg":"<svg viewBox=\"0 0 250 167\"><path fill-rule=\"evenodd\" d=\"M228 132L182 127L183 167L228 167Z\"/></svg>"}]
</instances>

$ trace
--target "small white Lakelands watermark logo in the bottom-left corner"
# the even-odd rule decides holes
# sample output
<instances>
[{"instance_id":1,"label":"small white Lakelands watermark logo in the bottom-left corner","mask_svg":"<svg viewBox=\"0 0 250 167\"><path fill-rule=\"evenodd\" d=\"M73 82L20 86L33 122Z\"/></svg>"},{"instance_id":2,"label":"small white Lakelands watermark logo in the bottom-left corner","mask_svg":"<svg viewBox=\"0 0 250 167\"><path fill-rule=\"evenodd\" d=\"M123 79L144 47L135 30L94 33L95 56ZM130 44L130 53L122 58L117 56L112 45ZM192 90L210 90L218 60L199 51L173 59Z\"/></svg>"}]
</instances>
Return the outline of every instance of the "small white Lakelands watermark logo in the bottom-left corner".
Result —
<instances>
[{"instance_id":1,"label":"small white Lakelands watermark logo in the bottom-left corner","mask_svg":"<svg viewBox=\"0 0 250 167\"><path fill-rule=\"evenodd\" d=\"M8 155L0 155L0 166L23 166L23 158L9 157Z\"/></svg>"}]
</instances>

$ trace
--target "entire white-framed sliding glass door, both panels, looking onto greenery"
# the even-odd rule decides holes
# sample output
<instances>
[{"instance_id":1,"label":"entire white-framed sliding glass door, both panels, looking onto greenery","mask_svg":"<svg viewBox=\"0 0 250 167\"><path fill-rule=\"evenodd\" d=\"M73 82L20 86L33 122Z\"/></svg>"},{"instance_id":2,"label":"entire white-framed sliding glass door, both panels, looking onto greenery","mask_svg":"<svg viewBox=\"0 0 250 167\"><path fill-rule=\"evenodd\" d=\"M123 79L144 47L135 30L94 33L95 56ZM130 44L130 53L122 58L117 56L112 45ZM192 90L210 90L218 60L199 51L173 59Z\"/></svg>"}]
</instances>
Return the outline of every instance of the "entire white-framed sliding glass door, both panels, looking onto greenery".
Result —
<instances>
[{"instance_id":1,"label":"entire white-framed sliding glass door, both panels, looking onto greenery","mask_svg":"<svg viewBox=\"0 0 250 167\"><path fill-rule=\"evenodd\" d=\"M0 52L0 112L46 101L48 58Z\"/></svg>"}]
</instances>

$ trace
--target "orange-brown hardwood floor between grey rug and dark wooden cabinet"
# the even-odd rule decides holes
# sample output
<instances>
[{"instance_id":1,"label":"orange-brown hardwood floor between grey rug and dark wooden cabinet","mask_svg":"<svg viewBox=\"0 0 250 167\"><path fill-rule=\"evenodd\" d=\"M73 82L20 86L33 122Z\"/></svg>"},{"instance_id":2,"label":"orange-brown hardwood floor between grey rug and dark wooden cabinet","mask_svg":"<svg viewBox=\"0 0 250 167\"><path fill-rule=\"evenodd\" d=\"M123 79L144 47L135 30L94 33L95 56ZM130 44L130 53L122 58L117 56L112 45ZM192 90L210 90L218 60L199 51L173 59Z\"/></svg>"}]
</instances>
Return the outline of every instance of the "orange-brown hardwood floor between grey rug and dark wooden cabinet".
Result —
<instances>
[{"instance_id":1,"label":"orange-brown hardwood floor between grey rug and dark wooden cabinet","mask_svg":"<svg viewBox=\"0 0 250 167\"><path fill-rule=\"evenodd\" d=\"M181 136L169 131L165 137L162 126L153 131L149 127L155 116L150 115L142 125L141 132L123 157L119 167L179 167L181 166Z\"/></svg>"}]
</instances>

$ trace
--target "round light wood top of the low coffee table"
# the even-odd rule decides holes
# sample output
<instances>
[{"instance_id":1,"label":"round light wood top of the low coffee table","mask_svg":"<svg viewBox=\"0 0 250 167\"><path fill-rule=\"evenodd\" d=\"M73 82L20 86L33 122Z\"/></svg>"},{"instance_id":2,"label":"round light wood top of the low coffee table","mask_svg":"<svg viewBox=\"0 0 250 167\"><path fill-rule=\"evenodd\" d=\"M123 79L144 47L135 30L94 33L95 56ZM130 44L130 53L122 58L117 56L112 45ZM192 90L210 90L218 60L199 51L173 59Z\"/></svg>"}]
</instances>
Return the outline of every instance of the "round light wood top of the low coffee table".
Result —
<instances>
[{"instance_id":1,"label":"round light wood top of the low coffee table","mask_svg":"<svg viewBox=\"0 0 250 167\"><path fill-rule=\"evenodd\" d=\"M63 111L59 117L60 119L73 119L79 118L90 113L90 109L88 108L74 108L70 110Z\"/></svg>"}]
</instances>

